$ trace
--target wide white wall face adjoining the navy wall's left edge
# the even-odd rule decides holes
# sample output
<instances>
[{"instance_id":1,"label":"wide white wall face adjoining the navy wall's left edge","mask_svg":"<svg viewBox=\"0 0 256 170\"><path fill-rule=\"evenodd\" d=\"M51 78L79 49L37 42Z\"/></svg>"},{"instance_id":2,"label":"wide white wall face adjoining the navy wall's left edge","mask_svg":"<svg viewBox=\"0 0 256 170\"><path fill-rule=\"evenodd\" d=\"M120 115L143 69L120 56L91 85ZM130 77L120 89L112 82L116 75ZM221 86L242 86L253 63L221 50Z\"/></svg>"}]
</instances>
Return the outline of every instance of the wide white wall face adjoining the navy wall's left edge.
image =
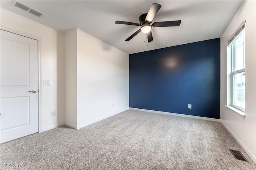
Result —
<instances>
[{"instance_id":1,"label":"wide white wall face adjoining the navy wall's left edge","mask_svg":"<svg viewBox=\"0 0 256 170\"><path fill-rule=\"evenodd\" d=\"M129 55L80 29L77 98L78 129L129 107Z\"/></svg>"}]
</instances>

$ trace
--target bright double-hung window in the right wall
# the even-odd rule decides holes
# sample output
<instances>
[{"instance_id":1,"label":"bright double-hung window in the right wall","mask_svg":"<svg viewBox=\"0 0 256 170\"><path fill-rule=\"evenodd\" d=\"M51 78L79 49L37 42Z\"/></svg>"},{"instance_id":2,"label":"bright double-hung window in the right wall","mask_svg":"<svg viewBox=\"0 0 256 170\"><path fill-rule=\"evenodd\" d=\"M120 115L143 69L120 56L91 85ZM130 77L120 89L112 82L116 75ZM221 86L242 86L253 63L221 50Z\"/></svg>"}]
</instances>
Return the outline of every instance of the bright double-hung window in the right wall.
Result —
<instances>
[{"instance_id":1,"label":"bright double-hung window in the right wall","mask_svg":"<svg viewBox=\"0 0 256 170\"><path fill-rule=\"evenodd\" d=\"M245 22L245 21L244 21ZM232 106L244 111L245 107L245 56L244 56L244 24L228 41L232 61Z\"/></svg>"}]
</instances>

